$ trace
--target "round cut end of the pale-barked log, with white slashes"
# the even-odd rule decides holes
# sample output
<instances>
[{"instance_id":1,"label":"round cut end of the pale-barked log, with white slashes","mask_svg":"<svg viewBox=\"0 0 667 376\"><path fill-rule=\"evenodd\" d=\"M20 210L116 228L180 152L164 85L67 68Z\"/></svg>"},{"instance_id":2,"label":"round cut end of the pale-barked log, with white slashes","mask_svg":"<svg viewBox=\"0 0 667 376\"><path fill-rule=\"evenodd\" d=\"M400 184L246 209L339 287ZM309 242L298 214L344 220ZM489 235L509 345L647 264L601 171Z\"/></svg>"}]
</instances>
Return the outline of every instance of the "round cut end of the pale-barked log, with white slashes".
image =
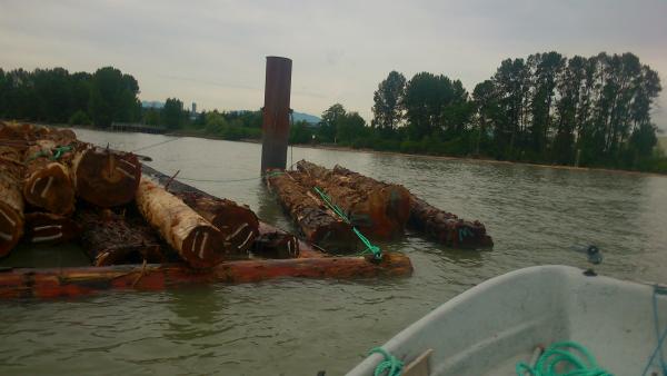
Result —
<instances>
[{"instance_id":1,"label":"round cut end of the pale-barked log, with white slashes","mask_svg":"<svg viewBox=\"0 0 667 376\"><path fill-rule=\"evenodd\" d=\"M209 268L223 259L220 232L209 226L199 226L185 238L181 257L196 268Z\"/></svg>"}]
</instances>

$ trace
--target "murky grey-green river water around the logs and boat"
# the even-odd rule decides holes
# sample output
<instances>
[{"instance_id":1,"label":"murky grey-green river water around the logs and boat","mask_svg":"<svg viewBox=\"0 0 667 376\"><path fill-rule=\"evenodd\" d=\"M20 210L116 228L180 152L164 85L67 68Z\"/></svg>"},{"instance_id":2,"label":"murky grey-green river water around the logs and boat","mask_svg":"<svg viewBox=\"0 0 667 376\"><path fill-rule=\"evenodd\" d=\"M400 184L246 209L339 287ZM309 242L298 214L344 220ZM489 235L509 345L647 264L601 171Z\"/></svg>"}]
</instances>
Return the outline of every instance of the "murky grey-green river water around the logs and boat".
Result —
<instances>
[{"instance_id":1,"label":"murky grey-green river water around the logs and boat","mask_svg":"<svg viewBox=\"0 0 667 376\"><path fill-rule=\"evenodd\" d=\"M122 150L172 139L76 131ZM181 138L138 152L153 158L150 166L180 170L185 182L293 230L257 178L260 151L255 144ZM0 374L340 375L368 349L485 279L532 265L588 267L577 249L589 244L605 256L598 273L667 283L665 177L295 147L288 162L299 159L402 184L435 206L481 220L496 246L455 250L416 235L384 244L410 256L409 278L285 279L2 301Z\"/></svg>"}]
</instances>

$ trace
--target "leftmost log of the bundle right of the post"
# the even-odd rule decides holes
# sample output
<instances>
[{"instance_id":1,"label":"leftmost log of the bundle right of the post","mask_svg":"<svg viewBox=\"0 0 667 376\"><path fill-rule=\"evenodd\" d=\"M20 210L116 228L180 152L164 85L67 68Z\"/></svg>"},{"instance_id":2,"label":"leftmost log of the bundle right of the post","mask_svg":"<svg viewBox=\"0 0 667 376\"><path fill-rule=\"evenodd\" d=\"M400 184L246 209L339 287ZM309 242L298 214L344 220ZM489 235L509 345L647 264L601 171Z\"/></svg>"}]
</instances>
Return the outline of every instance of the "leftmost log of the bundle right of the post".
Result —
<instances>
[{"instance_id":1,"label":"leftmost log of the bundle right of the post","mask_svg":"<svg viewBox=\"0 0 667 376\"><path fill-rule=\"evenodd\" d=\"M328 210L309 187L295 180L291 172L271 175L267 185L278 195L282 207L309 241L331 253L356 250L357 238L351 226Z\"/></svg>"}]
</instances>

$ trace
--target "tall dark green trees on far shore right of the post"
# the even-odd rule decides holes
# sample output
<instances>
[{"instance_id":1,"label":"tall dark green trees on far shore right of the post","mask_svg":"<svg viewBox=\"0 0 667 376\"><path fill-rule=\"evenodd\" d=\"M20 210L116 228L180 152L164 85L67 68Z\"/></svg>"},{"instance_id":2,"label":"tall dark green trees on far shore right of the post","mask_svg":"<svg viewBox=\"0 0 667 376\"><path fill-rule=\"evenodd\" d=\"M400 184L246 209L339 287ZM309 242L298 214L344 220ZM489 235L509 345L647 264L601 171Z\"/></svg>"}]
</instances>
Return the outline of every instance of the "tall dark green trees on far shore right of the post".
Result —
<instances>
[{"instance_id":1,"label":"tall dark green trees on far shore right of the post","mask_svg":"<svg viewBox=\"0 0 667 376\"><path fill-rule=\"evenodd\" d=\"M337 103L322 113L316 137L379 150L667 172L650 118L660 90L658 73L633 53L507 59L471 95L442 75L407 80L391 71L374 95L367 130L351 139L339 132L346 112Z\"/></svg>"}]
</instances>

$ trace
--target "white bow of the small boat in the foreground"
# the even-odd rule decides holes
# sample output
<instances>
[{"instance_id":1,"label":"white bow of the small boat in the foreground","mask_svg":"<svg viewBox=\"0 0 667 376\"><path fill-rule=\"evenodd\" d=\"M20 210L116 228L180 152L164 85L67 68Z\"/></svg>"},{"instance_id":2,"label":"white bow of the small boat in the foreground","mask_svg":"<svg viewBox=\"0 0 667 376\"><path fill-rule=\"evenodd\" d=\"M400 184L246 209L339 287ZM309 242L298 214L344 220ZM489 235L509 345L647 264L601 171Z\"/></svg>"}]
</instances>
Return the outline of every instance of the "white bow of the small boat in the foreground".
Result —
<instances>
[{"instance_id":1,"label":"white bow of the small boat in the foreground","mask_svg":"<svg viewBox=\"0 0 667 376\"><path fill-rule=\"evenodd\" d=\"M431 376L516 375L516 364L529 362L536 346L574 340L586 346L607 372L640 375L658 343L654 289L588 277L567 266L525 268L470 288L382 348L406 364L432 348ZM667 296L656 295L656 301L664 330ZM348 376L372 375L380 360L382 356L374 354ZM657 367L650 372L659 374Z\"/></svg>"}]
</instances>

